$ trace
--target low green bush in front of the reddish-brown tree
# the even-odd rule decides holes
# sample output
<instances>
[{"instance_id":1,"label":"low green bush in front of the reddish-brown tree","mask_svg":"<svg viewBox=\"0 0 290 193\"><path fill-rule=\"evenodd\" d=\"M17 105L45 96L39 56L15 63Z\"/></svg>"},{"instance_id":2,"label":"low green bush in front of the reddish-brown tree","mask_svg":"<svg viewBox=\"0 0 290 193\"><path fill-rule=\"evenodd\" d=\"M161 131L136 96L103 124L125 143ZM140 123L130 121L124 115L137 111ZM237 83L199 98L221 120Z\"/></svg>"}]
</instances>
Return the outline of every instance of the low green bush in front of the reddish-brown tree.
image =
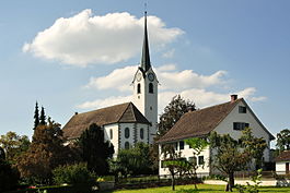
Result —
<instances>
[{"instance_id":1,"label":"low green bush in front of the reddish-brown tree","mask_svg":"<svg viewBox=\"0 0 290 193\"><path fill-rule=\"evenodd\" d=\"M56 184L77 184L94 181L94 174L88 170L85 164L60 166L53 170L53 174Z\"/></svg>"}]
</instances>

